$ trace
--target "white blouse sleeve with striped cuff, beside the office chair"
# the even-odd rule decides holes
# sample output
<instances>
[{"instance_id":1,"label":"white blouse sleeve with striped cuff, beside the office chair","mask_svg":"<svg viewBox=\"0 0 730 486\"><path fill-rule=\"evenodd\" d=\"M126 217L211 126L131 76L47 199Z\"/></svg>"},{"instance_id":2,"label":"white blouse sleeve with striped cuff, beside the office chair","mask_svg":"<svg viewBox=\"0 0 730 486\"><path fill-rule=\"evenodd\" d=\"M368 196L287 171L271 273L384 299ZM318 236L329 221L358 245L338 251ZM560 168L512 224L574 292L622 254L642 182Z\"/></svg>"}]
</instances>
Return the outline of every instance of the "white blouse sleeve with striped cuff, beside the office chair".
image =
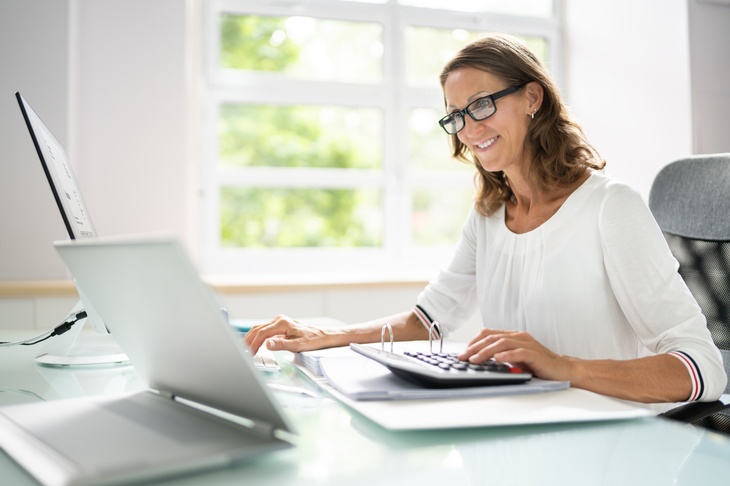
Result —
<instances>
[{"instance_id":1,"label":"white blouse sleeve with striped cuff, beside the office chair","mask_svg":"<svg viewBox=\"0 0 730 486\"><path fill-rule=\"evenodd\" d=\"M634 332L655 354L680 359L692 378L690 400L716 400L727 375L705 316L641 196L616 184L599 217L608 278Z\"/></svg>"}]
</instances>

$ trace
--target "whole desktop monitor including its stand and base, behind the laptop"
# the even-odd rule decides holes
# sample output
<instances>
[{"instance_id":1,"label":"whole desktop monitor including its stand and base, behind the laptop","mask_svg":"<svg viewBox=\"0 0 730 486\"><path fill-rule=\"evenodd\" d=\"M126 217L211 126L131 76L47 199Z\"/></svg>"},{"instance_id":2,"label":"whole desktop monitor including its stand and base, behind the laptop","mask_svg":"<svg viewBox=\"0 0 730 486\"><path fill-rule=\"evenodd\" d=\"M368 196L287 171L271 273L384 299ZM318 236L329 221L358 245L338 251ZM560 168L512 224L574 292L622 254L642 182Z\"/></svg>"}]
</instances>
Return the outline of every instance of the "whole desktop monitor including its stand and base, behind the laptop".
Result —
<instances>
[{"instance_id":1,"label":"whole desktop monitor including its stand and base, behind the laptop","mask_svg":"<svg viewBox=\"0 0 730 486\"><path fill-rule=\"evenodd\" d=\"M35 145L38 158L43 166L43 171L61 212L69 237L73 240L96 236L94 227L91 224L91 218L86 211L81 192L76 184L66 150L25 98L19 92L15 93L15 97L18 100L20 111L23 113L28 132L33 140L33 145ZM85 298L83 289L76 285L76 290L79 293L81 302L74 307L74 310L83 308L88 315L86 322L97 332L108 333L104 321ZM66 366L70 364L104 364L107 359L116 362L122 358L124 357L120 353L99 352L97 349L93 352L89 350L88 356L75 353L67 357L45 355L45 357L39 357L38 359L44 364ZM69 362L69 360L72 362Z\"/></svg>"}]
</instances>

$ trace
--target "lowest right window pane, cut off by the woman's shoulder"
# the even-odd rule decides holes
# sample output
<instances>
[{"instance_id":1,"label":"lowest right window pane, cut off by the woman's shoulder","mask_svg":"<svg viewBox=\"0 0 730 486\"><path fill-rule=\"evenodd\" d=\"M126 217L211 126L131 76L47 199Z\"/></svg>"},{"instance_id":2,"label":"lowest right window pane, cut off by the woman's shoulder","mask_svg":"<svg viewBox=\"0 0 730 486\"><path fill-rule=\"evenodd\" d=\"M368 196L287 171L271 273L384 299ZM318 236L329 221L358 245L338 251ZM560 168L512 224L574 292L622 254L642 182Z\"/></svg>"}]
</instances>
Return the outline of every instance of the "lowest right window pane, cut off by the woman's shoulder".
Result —
<instances>
[{"instance_id":1,"label":"lowest right window pane, cut off by the woman's shoulder","mask_svg":"<svg viewBox=\"0 0 730 486\"><path fill-rule=\"evenodd\" d=\"M421 188L413 190L413 244L415 246L453 245L459 239L473 190L468 186Z\"/></svg>"}]
</instances>

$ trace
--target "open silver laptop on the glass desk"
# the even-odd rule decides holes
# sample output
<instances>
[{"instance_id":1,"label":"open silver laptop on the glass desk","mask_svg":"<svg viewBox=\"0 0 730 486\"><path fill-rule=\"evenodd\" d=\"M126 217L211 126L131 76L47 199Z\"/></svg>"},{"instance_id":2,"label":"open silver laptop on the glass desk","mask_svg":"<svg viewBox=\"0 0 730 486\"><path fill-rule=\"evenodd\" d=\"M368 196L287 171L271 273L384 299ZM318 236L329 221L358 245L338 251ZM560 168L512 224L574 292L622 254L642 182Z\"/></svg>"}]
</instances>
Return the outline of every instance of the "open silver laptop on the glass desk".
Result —
<instances>
[{"instance_id":1,"label":"open silver laptop on the glass desk","mask_svg":"<svg viewBox=\"0 0 730 486\"><path fill-rule=\"evenodd\" d=\"M55 246L148 388L0 408L0 447L32 476L138 481L292 445L264 376L177 241Z\"/></svg>"}]
</instances>

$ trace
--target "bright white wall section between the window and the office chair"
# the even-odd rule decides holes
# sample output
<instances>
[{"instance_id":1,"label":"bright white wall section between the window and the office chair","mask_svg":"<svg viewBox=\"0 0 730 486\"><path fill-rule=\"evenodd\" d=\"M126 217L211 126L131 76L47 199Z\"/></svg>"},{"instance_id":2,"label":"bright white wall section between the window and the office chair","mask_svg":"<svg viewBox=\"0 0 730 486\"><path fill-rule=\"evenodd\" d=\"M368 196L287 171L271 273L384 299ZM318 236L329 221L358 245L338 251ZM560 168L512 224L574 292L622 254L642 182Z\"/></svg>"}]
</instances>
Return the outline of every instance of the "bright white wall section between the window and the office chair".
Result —
<instances>
[{"instance_id":1,"label":"bright white wall section between the window and the office chair","mask_svg":"<svg viewBox=\"0 0 730 486\"><path fill-rule=\"evenodd\" d=\"M648 198L657 172L692 153L686 0L564 8L568 102L606 171Z\"/></svg>"}]
</instances>

